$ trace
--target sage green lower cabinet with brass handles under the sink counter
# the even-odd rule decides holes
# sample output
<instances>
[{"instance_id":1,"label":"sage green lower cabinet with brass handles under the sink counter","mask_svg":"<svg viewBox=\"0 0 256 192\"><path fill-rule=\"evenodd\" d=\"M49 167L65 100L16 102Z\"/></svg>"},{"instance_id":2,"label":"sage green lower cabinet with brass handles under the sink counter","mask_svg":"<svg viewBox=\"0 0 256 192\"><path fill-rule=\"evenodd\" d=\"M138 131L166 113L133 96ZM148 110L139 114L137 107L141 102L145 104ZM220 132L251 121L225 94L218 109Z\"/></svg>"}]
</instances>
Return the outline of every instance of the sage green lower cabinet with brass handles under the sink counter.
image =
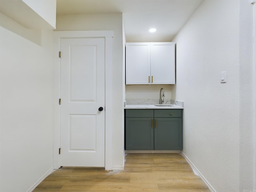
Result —
<instances>
[{"instance_id":1,"label":"sage green lower cabinet with brass handles under the sink counter","mask_svg":"<svg viewBox=\"0 0 256 192\"><path fill-rule=\"evenodd\" d=\"M182 150L181 109L126 109L126 150Z\"/></svg>"}]
</instances>

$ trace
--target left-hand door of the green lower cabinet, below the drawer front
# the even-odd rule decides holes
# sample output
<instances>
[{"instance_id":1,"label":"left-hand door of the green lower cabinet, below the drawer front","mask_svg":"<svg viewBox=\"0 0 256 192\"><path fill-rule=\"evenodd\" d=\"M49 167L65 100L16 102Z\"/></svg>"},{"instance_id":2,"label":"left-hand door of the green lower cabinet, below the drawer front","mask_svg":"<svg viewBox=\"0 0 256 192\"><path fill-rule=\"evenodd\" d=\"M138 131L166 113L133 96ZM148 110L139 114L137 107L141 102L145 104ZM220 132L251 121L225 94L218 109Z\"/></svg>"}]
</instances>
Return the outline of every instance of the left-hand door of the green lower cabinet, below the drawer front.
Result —
<instances>
[{"instance_id":1,"label":"left-hand door of the green lower cabinet, below the drawer front","mask_svg":"<svg viewBox=\"0 0 256 192\"><path fill-rule=\"evenodd\" d=\"M154 150L153 118L126 118L126 150Z\"/></svg>"}]
</instances>

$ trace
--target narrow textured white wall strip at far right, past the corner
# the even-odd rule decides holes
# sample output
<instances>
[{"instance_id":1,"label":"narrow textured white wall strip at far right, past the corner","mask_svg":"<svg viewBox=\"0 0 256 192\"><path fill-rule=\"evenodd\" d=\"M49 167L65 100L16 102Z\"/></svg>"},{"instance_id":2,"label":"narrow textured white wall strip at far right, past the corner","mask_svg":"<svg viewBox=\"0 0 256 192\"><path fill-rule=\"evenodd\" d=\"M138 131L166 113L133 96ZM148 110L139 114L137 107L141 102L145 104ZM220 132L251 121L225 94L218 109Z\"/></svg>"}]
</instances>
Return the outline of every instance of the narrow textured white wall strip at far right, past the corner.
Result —
<instances>
[{"instance_id":1,"label":"narrow textured white wall strip at far right, past the corner","mask_svg":"<svg viewBox=\"0 0 256 192\"><path fill-rule=\"evenodd\" d=\"M253 6L240 0L240 191L254 187ZM254 5L256 6L256 5Z\"/></svg>"}]
</instances>

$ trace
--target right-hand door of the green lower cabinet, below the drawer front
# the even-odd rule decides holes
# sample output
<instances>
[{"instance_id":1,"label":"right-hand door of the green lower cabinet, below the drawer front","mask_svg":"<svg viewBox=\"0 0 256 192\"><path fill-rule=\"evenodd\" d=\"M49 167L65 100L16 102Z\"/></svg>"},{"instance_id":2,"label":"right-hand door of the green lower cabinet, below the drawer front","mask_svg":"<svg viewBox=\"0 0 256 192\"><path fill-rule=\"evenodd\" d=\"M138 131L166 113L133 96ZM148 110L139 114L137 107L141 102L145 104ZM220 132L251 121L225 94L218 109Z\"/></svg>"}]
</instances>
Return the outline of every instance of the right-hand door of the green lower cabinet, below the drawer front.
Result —
<instances>
[{"instance_id":1,"label":"right-hand door of the green lower cabinet, below the drawer front","mask_svg":"<svg viewBox=\"0 0 256 192\"><path fill-rule=\"evenodd\" d=\"M154 118L154 150L182 150L182 118Z\"/></svg>"}]
</instances>

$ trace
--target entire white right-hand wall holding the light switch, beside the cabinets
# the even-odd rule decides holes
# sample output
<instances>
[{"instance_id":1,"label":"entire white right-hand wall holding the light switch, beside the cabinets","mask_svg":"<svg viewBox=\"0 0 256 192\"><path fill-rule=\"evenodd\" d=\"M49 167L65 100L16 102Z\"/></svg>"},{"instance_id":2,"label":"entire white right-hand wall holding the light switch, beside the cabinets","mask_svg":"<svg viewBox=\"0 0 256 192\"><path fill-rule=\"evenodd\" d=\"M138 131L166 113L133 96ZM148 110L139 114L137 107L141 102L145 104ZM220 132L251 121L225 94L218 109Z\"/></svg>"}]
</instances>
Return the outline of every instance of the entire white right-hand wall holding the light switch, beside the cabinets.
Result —
<instances>
[{"instance_id":1,"label":"entire white right-hand wall holding the light switch, beside the cabinets","mask_svg":"<svg viewBox=\"0 0 256 192\"><path fill-rule=\"evenodd\" d=\"M247 3L205 0L172 40L177 43L172 98L185 104L183 152L216 192L253 190L253 70L246 59L252 50L240 45L252 42Z\"/></svg>"}]
</instances>

